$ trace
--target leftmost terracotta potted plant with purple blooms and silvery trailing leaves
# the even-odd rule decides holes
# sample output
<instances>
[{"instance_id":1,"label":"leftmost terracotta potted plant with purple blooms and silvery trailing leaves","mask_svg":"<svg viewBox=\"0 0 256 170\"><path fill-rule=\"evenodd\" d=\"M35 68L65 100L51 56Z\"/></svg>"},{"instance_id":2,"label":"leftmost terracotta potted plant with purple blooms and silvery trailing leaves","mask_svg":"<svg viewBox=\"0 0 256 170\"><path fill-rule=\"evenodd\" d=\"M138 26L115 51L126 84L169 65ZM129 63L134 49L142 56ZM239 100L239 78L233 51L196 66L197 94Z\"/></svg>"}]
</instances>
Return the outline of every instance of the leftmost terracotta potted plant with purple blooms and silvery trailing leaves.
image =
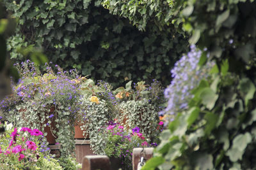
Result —
<instances>
[{"instance_id":1,"label":"leftmost terracotta potted plant with purple blooms and silvery trailing leaves","mask_svg":"<svg viewBox=\"0 0 256 170\"><path fill-rule=\"evenodd\" d=\"M56 72L48 64L41 72L29 60L15 66L21 78L13 85L12 96L1 102L2 116L17 127L40 129L46 137L53 135L53 143L61 144L61 152L72 153L81 83L86 78L78 76L74 69L67 72L57 65Z\"/></svg>"}]
</instances>

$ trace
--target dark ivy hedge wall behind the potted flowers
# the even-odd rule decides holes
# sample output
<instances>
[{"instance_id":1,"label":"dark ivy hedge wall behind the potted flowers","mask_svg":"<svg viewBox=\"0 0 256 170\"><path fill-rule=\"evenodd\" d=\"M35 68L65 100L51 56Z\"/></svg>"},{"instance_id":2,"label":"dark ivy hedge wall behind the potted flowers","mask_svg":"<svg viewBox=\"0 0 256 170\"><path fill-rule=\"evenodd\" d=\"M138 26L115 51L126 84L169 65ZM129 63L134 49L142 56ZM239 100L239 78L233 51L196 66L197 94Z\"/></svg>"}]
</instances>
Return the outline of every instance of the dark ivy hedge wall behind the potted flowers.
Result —
<instances>
[{"instance_id":1,"label":"dark ivy hedge wall behind the potted flowers","mask_svg":"<svg viewBox=\"0 0 256 170\"><path fill-rule=\"evenodd\" d=\"M76 67L114 85L125 80L170 82L170 69L188 41L172 26L138 31L129 20L109 14L101 1L4 1L19 18L8 49L13 60L24 60L20 46L43 46L61 67Z\"/></svg>"}]
</instances>

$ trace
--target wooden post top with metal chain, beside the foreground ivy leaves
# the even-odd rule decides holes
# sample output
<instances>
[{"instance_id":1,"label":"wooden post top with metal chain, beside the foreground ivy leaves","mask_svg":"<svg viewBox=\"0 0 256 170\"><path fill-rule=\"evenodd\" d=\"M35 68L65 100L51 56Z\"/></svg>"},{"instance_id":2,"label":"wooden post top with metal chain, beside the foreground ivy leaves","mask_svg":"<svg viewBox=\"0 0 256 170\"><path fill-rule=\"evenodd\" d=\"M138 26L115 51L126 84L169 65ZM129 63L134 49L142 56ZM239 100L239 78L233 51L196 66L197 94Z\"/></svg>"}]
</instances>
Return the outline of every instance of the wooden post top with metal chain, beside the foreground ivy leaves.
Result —
<instances>
[{"instance_id":1,"label":"wooden post top with metal chain, beside the foreground ivy leaves","mask_svg":"<svg viewBox=\"0 0 256 170\"><path fill-rule=\"evenodd\" d=\"M137 170L138 163L140 162L141 157L144 160L148 160L153 157L154 148L133 148L132 150L132 169Z\"/></svg>"}]
</instances>

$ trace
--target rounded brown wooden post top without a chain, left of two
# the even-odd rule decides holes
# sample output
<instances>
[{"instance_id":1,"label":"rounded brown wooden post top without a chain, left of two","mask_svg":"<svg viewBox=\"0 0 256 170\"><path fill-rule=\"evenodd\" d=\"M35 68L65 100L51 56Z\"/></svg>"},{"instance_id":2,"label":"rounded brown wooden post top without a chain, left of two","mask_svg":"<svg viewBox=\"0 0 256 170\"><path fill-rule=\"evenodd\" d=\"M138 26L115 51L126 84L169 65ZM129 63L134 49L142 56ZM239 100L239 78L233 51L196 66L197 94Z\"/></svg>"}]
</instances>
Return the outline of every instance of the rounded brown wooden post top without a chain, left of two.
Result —
<instances>
[{"instance_id":1,"label":"rounded brown wooden post top without a chain, left of two","mask_svg":"<svg viewBox=\"0 0 256 170\"><path fill-rule=\"evenodd\" d=\"M109 157L106 155L87 155L83 158L82 170L110 170Z\"/></svg>"}]
</instances>

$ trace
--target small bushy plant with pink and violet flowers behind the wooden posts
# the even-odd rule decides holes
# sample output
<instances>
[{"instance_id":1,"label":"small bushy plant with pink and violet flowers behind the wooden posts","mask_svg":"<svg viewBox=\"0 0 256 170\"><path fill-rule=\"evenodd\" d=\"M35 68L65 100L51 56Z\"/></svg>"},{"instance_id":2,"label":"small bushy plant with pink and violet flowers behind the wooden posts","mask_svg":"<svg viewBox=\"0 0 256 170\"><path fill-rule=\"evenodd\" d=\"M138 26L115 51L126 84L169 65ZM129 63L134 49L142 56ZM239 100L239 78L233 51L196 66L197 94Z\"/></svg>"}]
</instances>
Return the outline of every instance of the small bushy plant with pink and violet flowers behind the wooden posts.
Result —
<instances>
[{"instance_id":1,"label":"small bushy plant with pink and violet flowers behind the wooden posts","mask_svg":"<svg viewBox=\"0 0 256 170\"><path fill-rule=\"evenodd\" d=\"M140 128L135 127L131 132L125 131L124 126L112 124L103 130L106 132L106 146L104 152L108 157L122 159L124 169L132 167L132 150L137 147L149 146Z\"/></svg>"}]
</instances>

